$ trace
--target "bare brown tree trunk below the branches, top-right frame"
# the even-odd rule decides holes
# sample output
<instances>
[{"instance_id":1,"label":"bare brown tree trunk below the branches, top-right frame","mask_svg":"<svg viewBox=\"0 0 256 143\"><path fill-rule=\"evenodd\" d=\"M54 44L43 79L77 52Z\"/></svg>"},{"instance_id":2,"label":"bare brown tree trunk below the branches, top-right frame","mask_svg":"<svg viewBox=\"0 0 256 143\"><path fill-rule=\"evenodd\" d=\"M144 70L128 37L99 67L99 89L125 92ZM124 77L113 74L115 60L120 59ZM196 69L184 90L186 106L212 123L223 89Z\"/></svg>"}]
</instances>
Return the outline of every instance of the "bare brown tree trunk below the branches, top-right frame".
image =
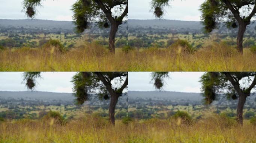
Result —
<instances>
[{"instance_id":1,"label":"bare brown tree trunk below the branches, top-right frame","mask_svg":"<svg viewBox=\"0 0 256 143\"><path fill-rule=\"evenodd\" d=\"M243 54L243 38L244 38L244 32L246 31L246 24L240 23L238 34L237 34L237 50L239 53Z\"/></svg>"}]
</instances>

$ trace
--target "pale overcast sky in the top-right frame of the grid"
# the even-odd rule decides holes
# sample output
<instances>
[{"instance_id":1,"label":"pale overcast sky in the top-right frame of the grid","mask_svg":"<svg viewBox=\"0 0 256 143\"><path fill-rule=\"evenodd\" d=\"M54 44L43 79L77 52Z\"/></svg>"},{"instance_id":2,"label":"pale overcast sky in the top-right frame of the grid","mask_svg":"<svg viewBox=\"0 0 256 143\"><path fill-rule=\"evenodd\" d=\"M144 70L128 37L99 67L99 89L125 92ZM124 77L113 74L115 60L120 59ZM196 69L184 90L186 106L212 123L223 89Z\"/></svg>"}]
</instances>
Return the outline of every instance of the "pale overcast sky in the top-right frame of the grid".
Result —
<instances>
[{"instance_id":1,"label":"pale overcast sky in the top-right frame of the grid","mask_svg":"<svg viewBox=\"0 0 256 143\"><path fill-rule=\"evenodd\" d=\"M129 0L129 19L156 19L150 12L151 0ZM204 0L173 0L165 7L164 19L200 21L198 10Z\"/></svg>"}]
</instances>

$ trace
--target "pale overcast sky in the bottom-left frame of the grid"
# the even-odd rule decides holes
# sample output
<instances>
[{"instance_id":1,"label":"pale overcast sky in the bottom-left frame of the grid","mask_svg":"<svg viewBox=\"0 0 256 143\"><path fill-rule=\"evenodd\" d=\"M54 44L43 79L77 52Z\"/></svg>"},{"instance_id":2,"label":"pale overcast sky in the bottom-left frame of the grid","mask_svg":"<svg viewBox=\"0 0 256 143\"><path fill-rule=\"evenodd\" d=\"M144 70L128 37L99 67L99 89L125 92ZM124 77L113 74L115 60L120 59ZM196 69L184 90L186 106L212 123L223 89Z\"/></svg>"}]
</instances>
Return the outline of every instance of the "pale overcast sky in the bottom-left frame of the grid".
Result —
<instances>
[{"instance_id":1,"label":"pale overcast sky in the bottom-left frame of the grid","mask_svg":"<svg viewBox=\"0 0 256 143\"><path fill-rule=\"evenodd\" d=\"M0 72L1 91L27 91L22 84L23 72ZM72 93L71 78L76 72L43 72L42 78L37 79L37 91Z\"/></svg>"}]
</instances>

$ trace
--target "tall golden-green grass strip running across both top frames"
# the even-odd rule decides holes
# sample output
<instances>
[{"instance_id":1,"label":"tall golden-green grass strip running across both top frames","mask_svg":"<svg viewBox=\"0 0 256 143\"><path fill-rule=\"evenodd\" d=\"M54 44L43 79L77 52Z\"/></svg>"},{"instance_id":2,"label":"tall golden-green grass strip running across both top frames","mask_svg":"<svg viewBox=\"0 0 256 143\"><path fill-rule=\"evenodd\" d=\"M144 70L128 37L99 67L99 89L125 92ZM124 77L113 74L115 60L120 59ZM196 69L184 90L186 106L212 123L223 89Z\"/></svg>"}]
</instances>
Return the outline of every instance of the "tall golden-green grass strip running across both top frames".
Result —
<instances>
[{"instance_id":1,"label":"tall golden-green grass strip running across both top frames","mask_svg":"<svg viewBox=\"0 0 256 143\"><path fill-rule=\"evenodd\" d=\"M193 54L182 47L121 49L110 54L90 44L65 53L39 48L0 51L0 71L256 71L256 54L241 55L229 46L213 43Z\"/></svg>"}]
</instances>

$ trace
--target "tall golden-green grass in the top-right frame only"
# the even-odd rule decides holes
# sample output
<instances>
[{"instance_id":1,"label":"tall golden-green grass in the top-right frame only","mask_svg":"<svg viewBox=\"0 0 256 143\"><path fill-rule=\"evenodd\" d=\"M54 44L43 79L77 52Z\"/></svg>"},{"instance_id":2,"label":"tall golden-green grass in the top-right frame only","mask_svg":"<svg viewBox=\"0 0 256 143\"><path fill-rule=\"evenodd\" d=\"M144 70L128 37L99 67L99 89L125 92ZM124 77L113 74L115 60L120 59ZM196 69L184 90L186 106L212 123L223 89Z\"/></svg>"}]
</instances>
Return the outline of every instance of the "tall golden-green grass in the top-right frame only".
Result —
<instances>
[{"instance_id":1,"label":"tall golden-green grass in the top-right frame only","mask_svg":"<svg viewBox=\"0 0 256 143\"><path fill-rule=\"evenodd\" d=\"M129 71L255 71L256 54L249 48L239 54L222 44L200 48L194 53L183 47L148 48L130 53Z\"/></svg>"}]
</instances>

